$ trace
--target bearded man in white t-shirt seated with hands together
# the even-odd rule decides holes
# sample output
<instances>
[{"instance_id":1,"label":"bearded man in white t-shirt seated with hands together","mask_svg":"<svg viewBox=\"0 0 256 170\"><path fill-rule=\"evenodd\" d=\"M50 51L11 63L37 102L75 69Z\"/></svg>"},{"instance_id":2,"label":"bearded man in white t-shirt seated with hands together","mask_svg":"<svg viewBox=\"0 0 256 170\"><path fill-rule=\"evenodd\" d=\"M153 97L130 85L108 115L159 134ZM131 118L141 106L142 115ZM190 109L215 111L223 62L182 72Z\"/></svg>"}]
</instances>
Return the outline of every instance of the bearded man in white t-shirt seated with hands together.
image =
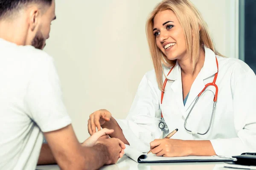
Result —
<instances>
[{"instance_id":1,"label":"bearded man in white t-shirt seated with hands together","mask_svg":"<svg viewBox=\"0 0 256 170\"><path fill-rule=\"evenodd\" d=\"M0 0L1 170L56 162L61 169L91 170L116 163L124 153L119 139L104 137L113 130L79 144L53 59L41 50L52 20L54 0ZM49 145L42 146L43 135Z\"/></svg>"}]
</instances>

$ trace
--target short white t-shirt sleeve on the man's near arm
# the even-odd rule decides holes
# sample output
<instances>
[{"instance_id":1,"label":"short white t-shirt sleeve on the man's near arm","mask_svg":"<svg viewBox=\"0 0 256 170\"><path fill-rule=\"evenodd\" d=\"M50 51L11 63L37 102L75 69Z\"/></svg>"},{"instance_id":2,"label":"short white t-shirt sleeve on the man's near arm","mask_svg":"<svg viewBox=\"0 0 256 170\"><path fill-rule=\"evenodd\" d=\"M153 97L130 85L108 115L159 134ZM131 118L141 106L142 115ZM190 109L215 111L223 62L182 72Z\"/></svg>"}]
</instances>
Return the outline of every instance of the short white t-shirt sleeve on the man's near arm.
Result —
<instances>
[{"instance_id":1,"label":"short white t-shirt sleeve on the man's near arm","mask_svg":"<svg viewBox=\"0 0 256 170\"><path fill-rule=\"evenodd\" d=\"M28 116L43 132L58 130L71 124L52 58L47 56L38 63L29 80L25 102Z\"/></svg>"}]
</instances>

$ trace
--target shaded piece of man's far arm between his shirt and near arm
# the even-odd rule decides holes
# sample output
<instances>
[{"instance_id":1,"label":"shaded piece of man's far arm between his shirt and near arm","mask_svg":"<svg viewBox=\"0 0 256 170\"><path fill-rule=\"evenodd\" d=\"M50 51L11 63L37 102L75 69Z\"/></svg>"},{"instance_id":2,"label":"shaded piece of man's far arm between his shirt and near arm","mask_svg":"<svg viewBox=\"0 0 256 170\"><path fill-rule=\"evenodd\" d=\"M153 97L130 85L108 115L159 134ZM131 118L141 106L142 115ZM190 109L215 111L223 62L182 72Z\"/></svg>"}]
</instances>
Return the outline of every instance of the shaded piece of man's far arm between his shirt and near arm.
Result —
<instances>
[{"instance_id":1,"label":"shaded piece of man's far arm between his shirt and near arm","mask_svg":"<svg viewBox=\"0 0 256 170\"><path fill-rule=\"evenodd\" d=\"M41 147L41 152L38 159L38 165L43 165L43 164L57 164L48 144L43 144Z\"/></svg>"}]
</instances>

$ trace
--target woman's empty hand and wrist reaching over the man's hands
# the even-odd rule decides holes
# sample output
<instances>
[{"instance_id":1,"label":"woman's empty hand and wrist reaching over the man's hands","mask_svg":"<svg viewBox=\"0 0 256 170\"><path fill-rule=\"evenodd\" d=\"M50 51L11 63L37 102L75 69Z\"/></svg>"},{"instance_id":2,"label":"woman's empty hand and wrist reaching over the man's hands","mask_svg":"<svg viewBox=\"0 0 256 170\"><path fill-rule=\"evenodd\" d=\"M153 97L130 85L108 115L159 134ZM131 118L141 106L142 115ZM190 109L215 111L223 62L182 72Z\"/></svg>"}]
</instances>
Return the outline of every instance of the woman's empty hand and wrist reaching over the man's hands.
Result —
<instances>
[{"instance_id":1,"label":"woman's empty hand and wrist reaching over the man's hands","mask_svg":"<svg viewBox=\"0 0 256 170\"><path fill-rule=\"evenodd\" d=\"M122 129L119 127L116 119L112 117L112 114L105 110L101 109L90 114L90 119L88 119L88 132L90 135L96 133L97 130L100 131L102 128L113 129L113 133L108 134L112 138L118 138L125 144L129 144L127 139L125 139Z\"/></svg>"}]
</instances>

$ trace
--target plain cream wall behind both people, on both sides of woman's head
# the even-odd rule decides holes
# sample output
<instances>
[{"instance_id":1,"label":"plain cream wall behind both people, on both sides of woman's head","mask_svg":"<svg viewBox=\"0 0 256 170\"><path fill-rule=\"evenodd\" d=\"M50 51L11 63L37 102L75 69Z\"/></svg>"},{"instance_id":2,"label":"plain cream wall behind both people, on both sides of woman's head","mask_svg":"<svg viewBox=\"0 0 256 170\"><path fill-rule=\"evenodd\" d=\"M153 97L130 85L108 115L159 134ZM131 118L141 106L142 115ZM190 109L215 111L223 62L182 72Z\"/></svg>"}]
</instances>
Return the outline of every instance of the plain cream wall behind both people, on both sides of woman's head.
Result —
<instances>
[{"instance_id":1,"label":"plain cream wall behind both people, on both sides of woman's head","mask_svg":"<svg viewBox=\"0 0 256 170\"><path fill-rule=\"evenodd\" d=\"M140 80L153 69L145 22L160 1L56 0L57 20L45 51L55 58L79 141L89 136L87 119L93 111L105 108L115 118L126 117ZM227 1L192 2L207 21L219 51L229 54Z\"/></svg>"}]
</instances>

